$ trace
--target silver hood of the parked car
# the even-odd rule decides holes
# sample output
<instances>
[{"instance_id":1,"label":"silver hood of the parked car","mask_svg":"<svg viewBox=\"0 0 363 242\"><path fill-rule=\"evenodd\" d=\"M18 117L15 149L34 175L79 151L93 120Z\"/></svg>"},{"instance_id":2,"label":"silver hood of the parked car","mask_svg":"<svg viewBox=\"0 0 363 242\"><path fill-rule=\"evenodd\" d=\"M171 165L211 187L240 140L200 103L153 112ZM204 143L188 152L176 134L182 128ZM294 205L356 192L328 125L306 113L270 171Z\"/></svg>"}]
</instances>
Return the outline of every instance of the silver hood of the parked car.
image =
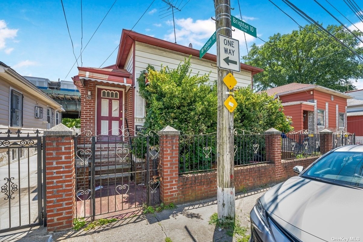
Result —
<instances>
[{"instance_id":1,"label":"silver hood of the parked car","mask_svg":"<svg viewBox=\"0 0 363 242\"><path fill-rule=\"evenodd\" d=\"M361 189L295 176L271 188L260 200L270 216L299 239L307 234L325 241L363 239Z\"/></svg>"}]
</instances>

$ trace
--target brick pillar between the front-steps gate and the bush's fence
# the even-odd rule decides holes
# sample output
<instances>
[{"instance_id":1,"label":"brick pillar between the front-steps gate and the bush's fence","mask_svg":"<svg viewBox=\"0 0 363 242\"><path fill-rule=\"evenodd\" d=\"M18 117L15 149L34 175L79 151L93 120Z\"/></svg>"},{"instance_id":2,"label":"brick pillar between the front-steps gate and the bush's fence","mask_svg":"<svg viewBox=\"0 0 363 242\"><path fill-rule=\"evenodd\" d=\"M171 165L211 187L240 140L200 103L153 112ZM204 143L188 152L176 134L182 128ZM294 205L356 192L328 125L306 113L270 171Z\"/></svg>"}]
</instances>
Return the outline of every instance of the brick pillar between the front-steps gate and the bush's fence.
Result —
<instances>
[{"instance_id":1,"label":"brick pillar between the front-steps gate and the bush's fence","mask_svg":"<svg viewBox=\"0 0 363 242\"><path fill-rule=\"evenodd\" d=\"M160 135L160 200L169 204L179 200L179 135L180 131L167 126Z\"/></svg>"}]
</instances>

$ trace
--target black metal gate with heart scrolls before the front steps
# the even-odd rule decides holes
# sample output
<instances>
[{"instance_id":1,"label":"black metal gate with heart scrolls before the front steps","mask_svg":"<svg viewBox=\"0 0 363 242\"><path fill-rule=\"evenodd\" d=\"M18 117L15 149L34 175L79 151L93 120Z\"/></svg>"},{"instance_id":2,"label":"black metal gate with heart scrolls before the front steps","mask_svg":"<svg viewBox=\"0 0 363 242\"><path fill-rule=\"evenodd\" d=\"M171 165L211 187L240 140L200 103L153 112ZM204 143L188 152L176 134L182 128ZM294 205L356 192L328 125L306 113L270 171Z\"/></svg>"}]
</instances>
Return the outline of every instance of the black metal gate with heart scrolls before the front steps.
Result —
<instances>
[{"instance_id":1,"label":"black metal gate with heart scrolls before the front steps","mask_svg":"<svg viewBox=\"0 0 363 242\"><path fill-rule=\"evenodd\" d=\"M88 136L87 136L88 134ZM77 217L126 212L159 203L159 136L74 138Z\"/></svg>"}]
</instances>

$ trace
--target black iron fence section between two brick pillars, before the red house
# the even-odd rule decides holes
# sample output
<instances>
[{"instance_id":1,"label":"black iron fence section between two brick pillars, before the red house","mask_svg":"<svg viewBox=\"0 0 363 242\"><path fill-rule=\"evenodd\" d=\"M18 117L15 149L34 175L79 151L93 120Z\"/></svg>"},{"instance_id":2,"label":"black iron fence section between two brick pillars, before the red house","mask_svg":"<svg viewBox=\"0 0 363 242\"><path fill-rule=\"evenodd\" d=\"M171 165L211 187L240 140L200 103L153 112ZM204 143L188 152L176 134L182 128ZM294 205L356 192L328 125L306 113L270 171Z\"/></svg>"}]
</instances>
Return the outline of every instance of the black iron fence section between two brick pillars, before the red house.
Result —
<instances>
[{"instance_id":1,"label":"black iron fence section between two brick pillars, before the red house","mask_svg":"<svg viewBox=\"0 0 363 242\"><path fill-rule=\"evenodd\" d=\"M291 132L281 135L281 159L299 159L321 155L319 133L309 130Z\"/></svg>"}]
</instances>

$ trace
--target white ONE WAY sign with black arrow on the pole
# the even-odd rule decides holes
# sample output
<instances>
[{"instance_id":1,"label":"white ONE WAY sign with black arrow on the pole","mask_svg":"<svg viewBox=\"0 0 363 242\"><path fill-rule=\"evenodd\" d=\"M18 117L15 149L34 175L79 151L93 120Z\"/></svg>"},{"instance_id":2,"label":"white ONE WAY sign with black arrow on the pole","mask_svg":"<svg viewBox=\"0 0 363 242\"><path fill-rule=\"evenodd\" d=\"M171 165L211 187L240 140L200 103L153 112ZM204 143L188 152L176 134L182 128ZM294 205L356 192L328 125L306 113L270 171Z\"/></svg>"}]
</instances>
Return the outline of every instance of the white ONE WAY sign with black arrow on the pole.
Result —
<instances>
[{"instance_id":1,"label":"white ONE WAY sign with black arrow on the pole","mask_svg":"<svg viewBox=\"0 0 363 242\"><path fill-rule=\"evenodd\" d=\"M240 72L239 41L218 34L218 63L219 68Z\"/></svg>"}]
</instances>

